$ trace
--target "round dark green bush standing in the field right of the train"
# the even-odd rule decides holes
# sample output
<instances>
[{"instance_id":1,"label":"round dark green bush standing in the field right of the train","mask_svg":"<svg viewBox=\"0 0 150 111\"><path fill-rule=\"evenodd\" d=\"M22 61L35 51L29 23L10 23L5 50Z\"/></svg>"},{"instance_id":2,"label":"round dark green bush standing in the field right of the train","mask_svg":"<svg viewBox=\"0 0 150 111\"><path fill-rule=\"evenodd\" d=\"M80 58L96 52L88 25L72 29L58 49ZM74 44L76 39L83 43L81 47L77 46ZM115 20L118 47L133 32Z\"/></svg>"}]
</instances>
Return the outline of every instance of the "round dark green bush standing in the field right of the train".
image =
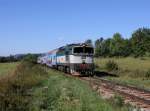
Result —
<instances>
[{"instance_id":1,"label":"round dark green bush standing in the field right of the train","mask_svg":"<svg viewBox=\"0 0 150 111\"><path fill-rule=\"evenodd\" d=\"M113 60L109 60L107 63L106 63L106 69L108 71L116 71L118 70L118 64L116 62L114 62Z\"/></svg>"}]
</instances>

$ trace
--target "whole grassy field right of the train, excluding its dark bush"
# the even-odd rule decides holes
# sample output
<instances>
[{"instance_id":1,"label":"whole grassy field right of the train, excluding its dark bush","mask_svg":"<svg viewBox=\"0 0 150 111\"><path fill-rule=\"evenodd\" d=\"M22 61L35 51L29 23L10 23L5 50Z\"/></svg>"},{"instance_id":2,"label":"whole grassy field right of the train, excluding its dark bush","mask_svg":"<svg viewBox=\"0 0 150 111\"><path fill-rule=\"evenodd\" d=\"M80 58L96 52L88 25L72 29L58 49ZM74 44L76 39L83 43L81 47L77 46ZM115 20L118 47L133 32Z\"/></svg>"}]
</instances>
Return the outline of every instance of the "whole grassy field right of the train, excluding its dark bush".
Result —
<instances>
[{"instance_id":1,"label":"whole grassy field right of the train, excluding its dark bush","mask_svg":"<svg viewBox=\"0 0 150 111\"><path fill-rule=\"evenodd\" d=\"M106 68L106 63L110 60L118 65L117 71L108 71ZM104 76L107 79L150 89L150 58L96 58L95 63L100 72L104 71L118 76Z\"/></svg>"}]
</instances>

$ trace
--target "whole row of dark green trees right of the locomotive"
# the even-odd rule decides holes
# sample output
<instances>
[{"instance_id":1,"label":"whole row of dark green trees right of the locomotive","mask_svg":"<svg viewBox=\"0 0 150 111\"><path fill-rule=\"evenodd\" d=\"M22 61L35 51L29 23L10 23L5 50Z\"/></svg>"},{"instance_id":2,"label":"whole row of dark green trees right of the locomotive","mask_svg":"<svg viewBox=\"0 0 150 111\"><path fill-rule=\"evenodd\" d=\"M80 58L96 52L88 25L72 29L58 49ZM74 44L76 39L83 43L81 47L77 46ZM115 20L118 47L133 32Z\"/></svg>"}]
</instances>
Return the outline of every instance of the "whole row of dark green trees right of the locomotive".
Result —
<instances>
[{"instance_id":1,"label":"whole row of dark green trees right of the locomotive","mask_svg":"<svg viewBox=\"0 0 150 111\"><path fill-rule=\"evenodd\" d=\"M92 40L85 43L92 45ZM130 38L123 38L120 33L115 33L112 38L100 37L94 43L96 57L150 57L150 29L139 28Z\"/></svg>"}]
</instances>

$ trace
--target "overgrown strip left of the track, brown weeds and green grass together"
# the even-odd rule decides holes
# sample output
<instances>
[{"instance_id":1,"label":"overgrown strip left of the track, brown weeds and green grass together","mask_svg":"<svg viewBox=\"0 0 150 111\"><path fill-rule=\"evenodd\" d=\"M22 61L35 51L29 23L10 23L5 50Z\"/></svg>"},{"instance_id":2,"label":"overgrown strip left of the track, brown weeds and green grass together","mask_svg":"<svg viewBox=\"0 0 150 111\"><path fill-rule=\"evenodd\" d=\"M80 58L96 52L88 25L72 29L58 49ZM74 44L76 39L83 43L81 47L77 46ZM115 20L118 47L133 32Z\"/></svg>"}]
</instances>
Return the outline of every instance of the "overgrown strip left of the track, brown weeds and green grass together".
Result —
<instances>
[{"instance_id":1,"label":"overgrown strip left of the track, brown weeds and green grass together","mask_svg":"<svg viewBox=\"0 0 150 111\"><path fill-rule=\"evenodd\" d=\"M0 80L0 93L1 111L129 111L131 109L120 101L120 97L116 96L111 101L104 100L83 81L26 62L17 66L13 74Z\"/></svg>"}]
</instances>

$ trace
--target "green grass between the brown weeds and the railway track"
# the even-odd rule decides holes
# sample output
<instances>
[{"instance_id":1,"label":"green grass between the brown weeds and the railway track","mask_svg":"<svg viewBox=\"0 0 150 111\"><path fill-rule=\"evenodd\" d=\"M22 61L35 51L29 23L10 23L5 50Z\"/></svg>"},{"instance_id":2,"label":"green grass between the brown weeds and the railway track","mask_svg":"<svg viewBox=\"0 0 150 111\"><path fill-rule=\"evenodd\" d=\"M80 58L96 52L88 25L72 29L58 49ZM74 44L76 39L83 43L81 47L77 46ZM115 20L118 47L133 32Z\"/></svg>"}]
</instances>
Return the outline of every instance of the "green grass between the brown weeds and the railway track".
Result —
<instances>
[{"instance_id":1,"label":"green grass between the brown weeds and the railway track","mask_svg":"<svg viewBox=\"0 0 150 111\"><path fill-rule=\"evenodd\" d=\"M103 100L86 83L48 70L44 86L34 92L33 111L129 111L129 107ZM40 101L40 102L39 102ZM122 102L122 101L121 101Z\"/></svg>"}]
</instances>

